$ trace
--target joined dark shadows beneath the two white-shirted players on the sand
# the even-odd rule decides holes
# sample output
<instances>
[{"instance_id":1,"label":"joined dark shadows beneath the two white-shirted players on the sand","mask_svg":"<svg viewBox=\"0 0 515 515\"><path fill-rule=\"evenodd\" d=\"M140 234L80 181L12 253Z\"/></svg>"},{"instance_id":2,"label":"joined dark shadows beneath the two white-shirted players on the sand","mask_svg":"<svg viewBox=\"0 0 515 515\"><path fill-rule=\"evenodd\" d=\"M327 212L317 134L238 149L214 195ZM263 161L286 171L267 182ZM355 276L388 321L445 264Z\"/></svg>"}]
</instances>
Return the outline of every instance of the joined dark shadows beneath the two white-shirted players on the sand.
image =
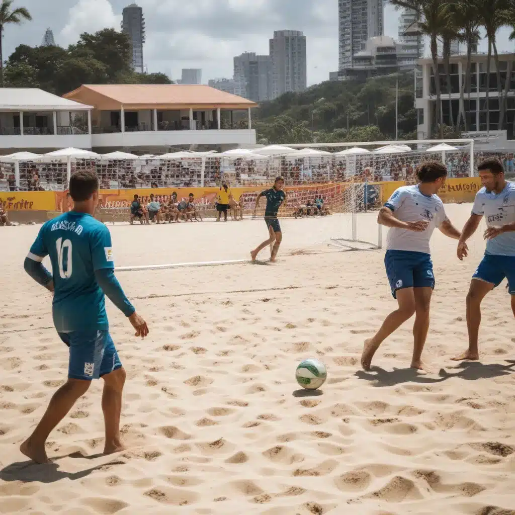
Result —
<instances>
[{"instance_id":1,"label":"joined dark shadows beneath the two white-shirted players on the sand","mask_svg":"<svg viewBox=\"0 0 515 515\"><path fill-rule=\"evenodd\" d=\"M370 372L358 370L356 376L359 379L365 379L373 382L373 386L396 386L402 383L441 383L447 381L451 377L459 377L465 381L475 381L477 379L491 379L492 377L500 377L515 372L515 361L506 360L508 365L490 364L484 365L480 362L462 362L452 367L452 372L441 368L439 377L423 375L413 368L394 368L391 371L381 367L372 367ZM454 372L454 370L458 370Z\"/></svg>"}]
</instances>

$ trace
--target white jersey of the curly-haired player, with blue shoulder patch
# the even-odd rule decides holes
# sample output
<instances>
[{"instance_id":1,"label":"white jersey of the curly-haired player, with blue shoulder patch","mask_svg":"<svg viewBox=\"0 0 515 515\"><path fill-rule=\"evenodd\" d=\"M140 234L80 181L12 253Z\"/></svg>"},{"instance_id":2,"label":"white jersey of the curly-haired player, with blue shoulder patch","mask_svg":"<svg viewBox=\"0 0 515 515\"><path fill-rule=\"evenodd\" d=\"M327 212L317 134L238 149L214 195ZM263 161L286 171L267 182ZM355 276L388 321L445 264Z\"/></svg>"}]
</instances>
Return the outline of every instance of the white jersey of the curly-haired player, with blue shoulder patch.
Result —
<instances>
[{"instance_id":1,"label":"white jersey of the curly-haired player, with blue shoulder patch","mask_svg":"<svg viewBox=\"0 0 515 515\"><path fill-rule=\"evenodd\" d=\"M386 240L388 250L409 250L431 254L429 241L435 230L445 220L443 202L438 195L424 195L419 187L401 186L385 203L395 216L403 222L427 220L429 226L423 232L390 228Z\"/></svg>"}]
</instances>

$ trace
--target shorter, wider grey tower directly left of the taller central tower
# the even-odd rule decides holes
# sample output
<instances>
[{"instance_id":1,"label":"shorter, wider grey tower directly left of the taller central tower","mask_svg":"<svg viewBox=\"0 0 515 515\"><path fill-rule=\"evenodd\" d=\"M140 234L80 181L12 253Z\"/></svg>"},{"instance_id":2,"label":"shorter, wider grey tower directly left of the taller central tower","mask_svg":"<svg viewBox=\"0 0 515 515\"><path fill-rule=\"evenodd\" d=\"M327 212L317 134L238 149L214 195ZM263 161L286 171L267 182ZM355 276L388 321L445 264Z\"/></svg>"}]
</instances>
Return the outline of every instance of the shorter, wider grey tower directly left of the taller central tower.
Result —
<instances>
[{"instance_id":1,"label":"shorter, wider grey tower directly left of the taller central tower","mask_svg":"<svg viewBox=\"0 0 515 515\"><path fill-rule=\"evenodd\" d=\"M269 100L272 88L270 56L245 52L234 58L235 94L254 102Z\"/></svg>"}]
</instances>

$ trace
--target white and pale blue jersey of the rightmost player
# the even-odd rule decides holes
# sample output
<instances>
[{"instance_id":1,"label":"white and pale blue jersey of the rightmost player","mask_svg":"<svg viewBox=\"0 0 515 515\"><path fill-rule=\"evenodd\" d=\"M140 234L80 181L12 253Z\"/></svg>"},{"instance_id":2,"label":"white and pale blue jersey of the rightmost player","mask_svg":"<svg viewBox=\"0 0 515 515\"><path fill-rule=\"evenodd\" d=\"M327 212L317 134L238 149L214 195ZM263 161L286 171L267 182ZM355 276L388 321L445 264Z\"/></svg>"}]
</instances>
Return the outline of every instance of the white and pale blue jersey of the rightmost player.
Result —
<instances>
[{"instance_id":1,"label":"white and pale blue jersey of the rightmost player","mask_svg":"<svg viewBox=\"0 0 515 515\"><path fill-rule=\"evenodd\" d=\"M508 182L501 193L481 188L476 193L472 214L484 215L488 227L502 227L515 222L515 184ZM515 256L515 232L505 232L489 239L486 253Z\"/></svg>"}]
</instances>

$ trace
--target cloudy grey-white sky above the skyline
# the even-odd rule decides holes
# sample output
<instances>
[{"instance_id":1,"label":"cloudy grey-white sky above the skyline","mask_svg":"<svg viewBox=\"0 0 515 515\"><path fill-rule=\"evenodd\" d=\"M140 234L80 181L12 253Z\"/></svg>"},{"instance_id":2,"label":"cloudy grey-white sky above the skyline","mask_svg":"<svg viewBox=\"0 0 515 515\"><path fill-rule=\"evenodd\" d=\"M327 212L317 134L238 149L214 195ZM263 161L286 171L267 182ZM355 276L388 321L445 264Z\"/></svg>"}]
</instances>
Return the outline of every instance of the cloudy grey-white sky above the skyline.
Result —
<instances>
[{"instance_id":1,"label":"cloudy grey-white sky above the skyline","mask_svg":"<svg viewBox=\"0 0 515 515\"><path fill-rule=\"evenodd\" d=\"M122 9L132 0L15 0L33 21L5 30L4 58L19 44L40 45L52 28L56 43L74 43L81 32L119 29ZM307 79L329 78L338 63L338 0L139 0L146 21L145 64L149 72L180 78L182 68L202 68L203 82L232 77L232 58L242 52L268 54L274 30L303 30ZM397 38L399 12L385 6L385 33ZM499 50L512 51L507 31ZM484 44L481 50L485 49Z\"/></svg>"}]
</instances>

